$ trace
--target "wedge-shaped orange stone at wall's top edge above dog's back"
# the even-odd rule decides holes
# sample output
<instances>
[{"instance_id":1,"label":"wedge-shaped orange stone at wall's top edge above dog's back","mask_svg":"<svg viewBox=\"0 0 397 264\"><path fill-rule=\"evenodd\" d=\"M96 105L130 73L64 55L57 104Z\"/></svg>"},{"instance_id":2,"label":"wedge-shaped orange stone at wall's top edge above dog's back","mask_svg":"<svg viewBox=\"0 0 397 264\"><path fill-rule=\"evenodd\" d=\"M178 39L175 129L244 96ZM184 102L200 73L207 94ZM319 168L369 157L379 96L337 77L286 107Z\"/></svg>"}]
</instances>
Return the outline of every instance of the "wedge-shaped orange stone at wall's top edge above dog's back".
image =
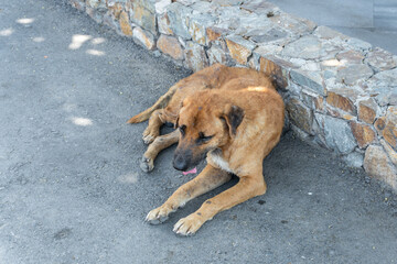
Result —
<instances>
[{"instance_id":1,"label":"wedge-shaped orange stone at wall's top edge above dog's back","mask_svg":"<svg viewBox=\"0 0 397 264\"><path fill-rule=\"evenodd\" d=\"M256 45L239 35L226 36L225 40L232 58L240 65L246 65Z\"/></svg>"}]
</instances>

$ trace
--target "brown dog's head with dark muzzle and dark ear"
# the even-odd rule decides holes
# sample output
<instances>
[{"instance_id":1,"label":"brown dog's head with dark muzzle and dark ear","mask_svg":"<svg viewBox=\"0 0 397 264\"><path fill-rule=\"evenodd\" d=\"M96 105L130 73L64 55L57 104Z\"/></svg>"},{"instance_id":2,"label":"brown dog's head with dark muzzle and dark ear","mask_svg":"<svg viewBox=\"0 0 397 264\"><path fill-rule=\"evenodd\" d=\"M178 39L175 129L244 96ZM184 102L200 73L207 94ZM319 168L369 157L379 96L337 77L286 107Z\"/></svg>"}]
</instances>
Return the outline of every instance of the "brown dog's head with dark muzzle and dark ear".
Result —
<instances>
[{"instance_id":1,"label":"brown dog's head with dark muzzle and dark ear","mask_svg":"<svg viewBox=\"0 0 397 264\"><path fill-rule=\"evenodd\" d=\"M186 98L179 112L175 127L180 141L173 166L180 170L191 168L206 154L227 144L236 135L244 119L244 110L213 92L197 92Z\"/></svg>"}]
</instances>

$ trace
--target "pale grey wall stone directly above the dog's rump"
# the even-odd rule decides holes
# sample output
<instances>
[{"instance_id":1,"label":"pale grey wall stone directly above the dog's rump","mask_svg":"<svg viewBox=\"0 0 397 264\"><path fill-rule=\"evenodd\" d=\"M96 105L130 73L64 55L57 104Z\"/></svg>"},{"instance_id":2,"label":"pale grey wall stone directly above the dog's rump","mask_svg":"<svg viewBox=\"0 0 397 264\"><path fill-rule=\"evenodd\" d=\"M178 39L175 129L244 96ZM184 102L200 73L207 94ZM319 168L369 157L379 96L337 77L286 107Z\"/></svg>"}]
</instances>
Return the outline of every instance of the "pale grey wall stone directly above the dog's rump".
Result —
<instances>
[{"instance_id":1,"label":"pale grey wall stone directly above the dog's rump","mask_svg":"<svg viewBox=\"0 0 397 264\"><path fill-rule=\"evenodd\" d=\"M194 42L186 42L185 65L193 72L207 67L208 58L206 57L204 47Z\"/></svg>"}]
</instances>

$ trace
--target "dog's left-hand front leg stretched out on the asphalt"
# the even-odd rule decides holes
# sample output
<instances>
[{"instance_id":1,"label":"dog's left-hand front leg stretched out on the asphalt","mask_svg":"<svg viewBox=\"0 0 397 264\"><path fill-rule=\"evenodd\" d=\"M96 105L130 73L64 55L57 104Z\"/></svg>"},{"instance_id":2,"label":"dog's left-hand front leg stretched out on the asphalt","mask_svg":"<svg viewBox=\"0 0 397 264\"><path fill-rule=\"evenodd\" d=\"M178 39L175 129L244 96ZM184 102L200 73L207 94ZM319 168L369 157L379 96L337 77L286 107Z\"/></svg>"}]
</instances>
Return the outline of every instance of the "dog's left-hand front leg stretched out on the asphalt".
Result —
<instances>
[{"instance_id":1,"label":"dog's left-hand front leg stretched out on the asphalt","mask_svg":"<svg viewBox=\"0 0 397 264\"><path fill-rule=\"evenodd\" d=\"M146 221L152 224L165 221L169 215L176 211L179 207L183 207L195 197L227 183L230 178L229 173L207 165L194 179L179 187L161 207L151 210Z\"/></svg>"}]
</instances>

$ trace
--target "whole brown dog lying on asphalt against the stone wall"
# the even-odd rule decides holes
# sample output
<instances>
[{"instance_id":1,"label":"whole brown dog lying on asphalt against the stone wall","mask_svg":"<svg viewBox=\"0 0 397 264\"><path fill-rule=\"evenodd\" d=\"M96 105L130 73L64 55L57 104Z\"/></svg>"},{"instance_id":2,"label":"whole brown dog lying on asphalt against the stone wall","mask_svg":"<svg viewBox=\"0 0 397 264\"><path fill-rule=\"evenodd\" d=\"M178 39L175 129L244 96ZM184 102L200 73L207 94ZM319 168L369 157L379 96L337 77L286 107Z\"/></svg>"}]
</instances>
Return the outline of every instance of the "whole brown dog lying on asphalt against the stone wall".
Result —
<instances>
[{"instance_id":1,"label":"whole brown dog lying on asphalt against the stone wall","mask_svg":"<svg viewBox=\"0 0 397 264\"><path fill-rule=\"evenodd\" d=\"M168 100L165 109L155 110ZM280 139L285 112L270 79L253 69L214 65L179 81L152 108L129 122L142 121L151 112L143 141L153 143L143 164L152 165L161 150L179 141L173 161L176 169L186 170L205 156L207 166L150 211L147 221L163 222L189 200L228 182L232 174L239 177L238 184L178 221L174 232L194 234L217 212L266 193L262 161ZM164 122L174 123L178 130L158 136Z\"/></svg>"}]
</instances>

